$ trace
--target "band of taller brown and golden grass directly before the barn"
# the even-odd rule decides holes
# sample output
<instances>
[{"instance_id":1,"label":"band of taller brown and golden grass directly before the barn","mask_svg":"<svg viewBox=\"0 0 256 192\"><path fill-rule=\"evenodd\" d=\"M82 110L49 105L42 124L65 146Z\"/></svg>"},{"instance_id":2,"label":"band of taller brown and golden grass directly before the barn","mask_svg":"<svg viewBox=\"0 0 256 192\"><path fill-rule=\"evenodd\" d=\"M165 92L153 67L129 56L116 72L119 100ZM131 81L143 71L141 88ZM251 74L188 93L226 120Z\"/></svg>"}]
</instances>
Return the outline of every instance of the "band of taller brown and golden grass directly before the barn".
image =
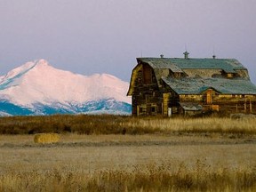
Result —
<instances>
[{"instance_id":1,"label":"band of taller brown and golden grass directly before the barn","mask_svg":"<svg viewBox=\"0 0 256 192\"><path fill-rule=\"evenodd\" d=\"M0 118L0 134L73 132L78 134L232 133L256 134L256 118L163 118L132 116L13 116Z\"/></svg>"}]
</instances>

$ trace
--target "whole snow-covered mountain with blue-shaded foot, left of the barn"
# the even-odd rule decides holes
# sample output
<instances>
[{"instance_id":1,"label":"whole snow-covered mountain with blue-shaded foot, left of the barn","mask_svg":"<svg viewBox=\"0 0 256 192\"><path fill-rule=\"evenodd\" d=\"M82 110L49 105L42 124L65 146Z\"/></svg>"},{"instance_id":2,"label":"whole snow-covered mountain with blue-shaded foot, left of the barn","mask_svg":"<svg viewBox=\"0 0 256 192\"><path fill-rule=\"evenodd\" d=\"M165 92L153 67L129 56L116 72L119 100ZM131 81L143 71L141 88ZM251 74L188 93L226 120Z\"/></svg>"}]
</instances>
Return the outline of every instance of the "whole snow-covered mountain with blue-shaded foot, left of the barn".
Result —
<instances>
[{"instance_id":1,"label":"whole snow-covered mountain with blue-shaded foot, left of the barn","mask_svg":"<svg viewBox=\"0 0 256 192\"><path fill-rule=\"evenodd\" d=\"M130 114L129 84L116 76L82 76L28 62L0 76L0 116L63 113Z\"/></svg>"}]
</instances>

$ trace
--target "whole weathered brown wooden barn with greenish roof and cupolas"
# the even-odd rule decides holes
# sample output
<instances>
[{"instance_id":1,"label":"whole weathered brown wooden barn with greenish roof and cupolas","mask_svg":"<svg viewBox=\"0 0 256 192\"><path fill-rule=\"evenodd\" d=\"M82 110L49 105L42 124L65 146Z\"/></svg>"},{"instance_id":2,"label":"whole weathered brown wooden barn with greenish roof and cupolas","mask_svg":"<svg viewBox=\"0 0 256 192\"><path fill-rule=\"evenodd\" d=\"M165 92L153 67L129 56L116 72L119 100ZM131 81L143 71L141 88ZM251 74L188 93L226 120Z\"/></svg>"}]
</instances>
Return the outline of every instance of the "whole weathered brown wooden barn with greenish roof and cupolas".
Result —
<instances>
[{"instance_id":1,"label":"whole weathered brown wooden barn with greenish roof and cupolas","mask_svg":"<svg viewBox=\"0 0 256 192\"><path fill-rule=\"evenodd\" d=\"M256 114L256 86L234 59L137 58L130 88L132 115Z\"/></svg>"}]
</instances>

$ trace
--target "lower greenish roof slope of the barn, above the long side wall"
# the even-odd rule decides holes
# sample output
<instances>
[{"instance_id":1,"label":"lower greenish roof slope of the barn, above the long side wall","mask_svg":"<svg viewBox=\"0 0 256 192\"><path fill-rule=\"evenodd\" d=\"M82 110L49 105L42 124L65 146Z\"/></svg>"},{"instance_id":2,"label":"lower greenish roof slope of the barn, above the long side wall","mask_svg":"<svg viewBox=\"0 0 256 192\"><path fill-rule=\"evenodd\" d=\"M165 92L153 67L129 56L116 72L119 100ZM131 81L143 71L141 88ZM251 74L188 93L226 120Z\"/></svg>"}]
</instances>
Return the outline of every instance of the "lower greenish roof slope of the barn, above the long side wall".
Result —
<instances>
[{"instance_id":1,"label":"lower greenish roof slope of the barn, above the long side wall","mask_svg":"<svg viewBox=\"0 0 256 192\"><path fill-rule=\"evenodd\" d=\"M226 79L226 78L172 78L162 77L178 94L200 94L207 89L213 88L222 94L256 94L256 86L249 80Z\"/></svg>"}]
</instances>

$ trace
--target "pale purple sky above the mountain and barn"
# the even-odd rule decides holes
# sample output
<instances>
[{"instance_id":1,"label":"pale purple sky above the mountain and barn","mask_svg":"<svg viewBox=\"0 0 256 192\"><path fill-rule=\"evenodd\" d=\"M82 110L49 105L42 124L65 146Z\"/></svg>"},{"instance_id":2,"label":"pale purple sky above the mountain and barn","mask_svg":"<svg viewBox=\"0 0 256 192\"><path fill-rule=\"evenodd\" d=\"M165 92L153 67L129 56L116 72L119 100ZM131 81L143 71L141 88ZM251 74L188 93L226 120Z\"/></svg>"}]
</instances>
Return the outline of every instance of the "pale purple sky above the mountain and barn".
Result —
<instances>
[{"instance_id":1,"label":"pale purple sky above the mountain and barn","mask_svg":"<svg viewBox=\"0 0 256 192\"><path fill-rule=\"evenodd\" d=\"M37 59L130 81L136 57L235 58L256 83L255 0L0 0L0 76Z\"/></svg>"}]
</instances>

